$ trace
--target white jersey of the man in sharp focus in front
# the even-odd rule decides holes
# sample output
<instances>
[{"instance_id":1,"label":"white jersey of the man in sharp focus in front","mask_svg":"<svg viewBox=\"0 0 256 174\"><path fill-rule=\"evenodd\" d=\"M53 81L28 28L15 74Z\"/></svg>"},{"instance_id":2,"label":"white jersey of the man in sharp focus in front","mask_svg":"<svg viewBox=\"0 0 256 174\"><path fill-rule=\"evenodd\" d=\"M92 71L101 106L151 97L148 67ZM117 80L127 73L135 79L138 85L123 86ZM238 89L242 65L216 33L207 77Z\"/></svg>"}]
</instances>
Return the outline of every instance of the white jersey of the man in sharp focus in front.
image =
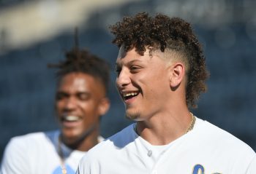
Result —
<instances>
[{"instance_id":1,"label":"white jersey of the man in sharp focus in front","mask_svg":"<svg viewBox=\"0 0 256 174\"><path fill-rule=\"evenodd\" d=\"M165 146L152 146L133 124L94 146L78 174L255 174L256 154L246 143L213 124L195 127Z\"/></svg>"}]
</instances>

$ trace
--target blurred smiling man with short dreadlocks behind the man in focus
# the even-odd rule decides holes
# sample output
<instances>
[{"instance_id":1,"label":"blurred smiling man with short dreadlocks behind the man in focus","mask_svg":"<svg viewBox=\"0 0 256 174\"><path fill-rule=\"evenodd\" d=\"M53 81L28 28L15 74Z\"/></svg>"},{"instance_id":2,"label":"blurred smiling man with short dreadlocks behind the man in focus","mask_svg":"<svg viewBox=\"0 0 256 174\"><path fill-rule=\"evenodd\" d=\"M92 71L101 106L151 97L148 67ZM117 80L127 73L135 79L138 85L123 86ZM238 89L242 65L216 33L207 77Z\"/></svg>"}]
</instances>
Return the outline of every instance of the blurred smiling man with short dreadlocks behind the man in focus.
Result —
<instances>
[{"instance_id":1,"label":"blurred smiling man with short dreadlocks behind the man in focus","mask_svg":"<svg viewBox=\"0 0 256 174\"><path fill-rule=\"evenodd\" d=\"M86 151L102 141L99 121L110 106L108 63L75 47L64 62L52 66L58 68L60 130L12 138L4 152L2 174L72 174Z\"/></svg>"}]
</instances>

